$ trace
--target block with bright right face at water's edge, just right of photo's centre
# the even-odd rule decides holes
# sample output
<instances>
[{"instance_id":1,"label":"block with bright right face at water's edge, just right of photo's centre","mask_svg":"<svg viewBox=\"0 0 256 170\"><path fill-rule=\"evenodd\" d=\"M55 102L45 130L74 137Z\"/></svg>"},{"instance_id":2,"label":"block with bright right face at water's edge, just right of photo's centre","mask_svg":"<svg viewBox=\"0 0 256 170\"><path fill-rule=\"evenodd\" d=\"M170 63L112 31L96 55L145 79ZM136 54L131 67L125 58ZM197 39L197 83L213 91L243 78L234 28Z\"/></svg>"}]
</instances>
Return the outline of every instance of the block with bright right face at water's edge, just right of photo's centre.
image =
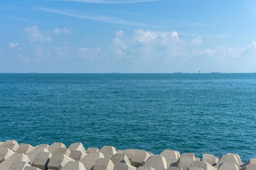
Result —
<instances>
[{"instance_id":1,"label":"block with bright right face at water's edge, just right of photo's centre","mask_svg":"<svg viewBox=\"0 0 256 170\"><path fill-rule=\"evenodd\" d=\"M150 155L145 150L135 149L135 155L132 155L131 165L138 168L144 166Z\"/></svg>"}]
</instances>

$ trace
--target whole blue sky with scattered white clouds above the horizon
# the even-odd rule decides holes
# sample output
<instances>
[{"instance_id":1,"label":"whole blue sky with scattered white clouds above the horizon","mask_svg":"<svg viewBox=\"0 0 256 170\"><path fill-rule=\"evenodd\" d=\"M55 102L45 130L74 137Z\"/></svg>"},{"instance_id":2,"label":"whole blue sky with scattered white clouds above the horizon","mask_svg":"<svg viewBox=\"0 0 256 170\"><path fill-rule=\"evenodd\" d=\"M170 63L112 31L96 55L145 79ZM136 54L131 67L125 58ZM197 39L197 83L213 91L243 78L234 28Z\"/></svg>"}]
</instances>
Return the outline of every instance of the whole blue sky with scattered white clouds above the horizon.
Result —
<instances>
[{"instance_id":1,"label":"whole blue sky with scattered white clouds above the horizon","mask_svg":"<svg viewBox=\"0 0 256 170\"><path fill-rule=\"evenodd\" d=\"M256 72L255 0L2 0L0 73Z\"/></svg>"}]
</instances>

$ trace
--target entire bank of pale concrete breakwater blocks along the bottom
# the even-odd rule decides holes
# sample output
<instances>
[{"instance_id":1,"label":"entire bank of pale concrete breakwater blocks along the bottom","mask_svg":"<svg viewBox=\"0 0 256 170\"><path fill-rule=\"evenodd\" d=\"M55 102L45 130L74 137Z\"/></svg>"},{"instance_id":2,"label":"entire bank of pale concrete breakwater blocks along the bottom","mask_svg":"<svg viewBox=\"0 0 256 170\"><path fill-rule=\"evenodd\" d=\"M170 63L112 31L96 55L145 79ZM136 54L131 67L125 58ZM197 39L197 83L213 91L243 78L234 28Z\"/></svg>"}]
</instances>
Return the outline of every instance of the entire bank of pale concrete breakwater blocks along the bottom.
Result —
<instances>
[{"instance_id":1,"label":"entire bank of pale concrete breakwater blocks along the bottom","mask_svg":"<svg viewBox=\"0 0 256 170\"><path fill-rule=\"evenodd\" d=\"M237 154L220 158L205 153L202 160L193 153L163 150L160 155L138 149L116 150L113 146L87 148L81 142L68 148L52 145L0 142L0 170L256 170L256 158L243 163Z\"/></svg>"}]
</instances>

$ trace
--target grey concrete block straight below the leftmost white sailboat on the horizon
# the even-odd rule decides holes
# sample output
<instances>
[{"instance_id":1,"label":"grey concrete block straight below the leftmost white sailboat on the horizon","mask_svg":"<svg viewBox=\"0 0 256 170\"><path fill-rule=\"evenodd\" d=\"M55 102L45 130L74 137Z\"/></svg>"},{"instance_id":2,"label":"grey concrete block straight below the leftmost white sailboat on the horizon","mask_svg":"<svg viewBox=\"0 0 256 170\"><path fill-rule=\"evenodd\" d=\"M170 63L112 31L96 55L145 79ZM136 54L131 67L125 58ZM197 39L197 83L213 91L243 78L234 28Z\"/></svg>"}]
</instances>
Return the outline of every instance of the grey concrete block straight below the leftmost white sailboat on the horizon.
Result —
<instances>
[{"instance_id":1,"label":"grey concrete block straight below the leftmost white sailboat on the horizon","mask_svg":"<svg viewBox=\"0 0 256 170\"><path fill-rule=\"evenodd\" d=\"M175 166L180 167L183 170L188 170L189 167L193 166L193 161L195 161L195 155L193 153L184 153L175 163Z\"/></svg>"}]
</instances>

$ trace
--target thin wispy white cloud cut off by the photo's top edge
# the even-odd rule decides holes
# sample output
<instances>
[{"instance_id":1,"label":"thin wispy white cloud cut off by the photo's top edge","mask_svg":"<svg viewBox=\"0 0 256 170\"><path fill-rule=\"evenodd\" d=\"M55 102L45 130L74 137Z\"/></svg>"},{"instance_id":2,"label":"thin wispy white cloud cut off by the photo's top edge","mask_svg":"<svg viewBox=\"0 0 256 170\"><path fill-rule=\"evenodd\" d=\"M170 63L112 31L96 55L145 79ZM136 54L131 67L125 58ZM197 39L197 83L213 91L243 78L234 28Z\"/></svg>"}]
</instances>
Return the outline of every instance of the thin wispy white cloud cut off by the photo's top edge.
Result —
<instances>
[{"instance_id":1,"label":"thin wispy white cloud cut off by the photo's top edge","mask_svg":"<svg viewBox=\"0 0 256 170\"><path fill-rule=\"evenodd\" d=\"M50 0L50 1L75 1L85 2L94 4L128 4L128 3L139 3L139 2L152 2L159 0Z\"/></svg>"}]
</instances>

